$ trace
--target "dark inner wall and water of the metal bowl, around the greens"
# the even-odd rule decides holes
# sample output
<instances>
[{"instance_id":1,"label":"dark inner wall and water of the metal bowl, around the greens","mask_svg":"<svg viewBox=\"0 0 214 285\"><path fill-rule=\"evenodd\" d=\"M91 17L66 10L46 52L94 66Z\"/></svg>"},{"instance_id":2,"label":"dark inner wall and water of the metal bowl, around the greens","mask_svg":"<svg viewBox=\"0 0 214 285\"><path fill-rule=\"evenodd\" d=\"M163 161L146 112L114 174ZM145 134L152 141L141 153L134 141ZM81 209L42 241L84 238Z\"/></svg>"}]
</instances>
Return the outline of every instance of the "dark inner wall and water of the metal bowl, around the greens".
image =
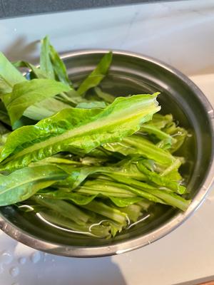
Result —
<instances>
[{"instance_id":1,"label":"dark inner wall and water of the metal bowl, around the greens","mask_svg":"<svg viewBox=\"0 0 214 285\"><path fill-rule=\"evenodd\" d=\"M103 52L100 51L71 53L71 56L64 58L71 81L78 84L93 70L102 56ZM212 138L209 135L212 133L210 131L212 126L209 123L207 111L193 86L185 82L185 78L177 76L170 69L148 58L115 53L111 71L101 83L101 88L116 96L161 92L158 96L162 107L161 113L172 113L175 120L178 120L179 124L192 134L186 142L187 162L181 171L188 180L189 196L193 199L207 176L212 155ZM50 227L34 214L24 214L13 206L0 209L1 217L22 232L61 247L99 247L119 244L121 241L136 239L153 232L163 224L172 221L178 213L178 210L170 207L158 206L153 217L119 234L116 238L93 239Z\"/></svg>"}]
</instances>

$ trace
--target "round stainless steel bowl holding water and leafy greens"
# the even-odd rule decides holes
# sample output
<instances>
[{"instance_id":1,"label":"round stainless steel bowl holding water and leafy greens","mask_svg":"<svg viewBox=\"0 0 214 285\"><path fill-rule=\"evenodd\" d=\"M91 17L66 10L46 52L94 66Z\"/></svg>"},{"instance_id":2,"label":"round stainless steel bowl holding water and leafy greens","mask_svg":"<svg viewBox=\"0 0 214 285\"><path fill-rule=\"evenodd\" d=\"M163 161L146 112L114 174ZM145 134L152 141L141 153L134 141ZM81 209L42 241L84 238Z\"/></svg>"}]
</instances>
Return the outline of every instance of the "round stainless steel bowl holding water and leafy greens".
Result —
<instances>
[{"instance_id":1,"label":"round stainless steel bowl holding water and leafy greens","mask_svg":"<svg viewBox=\"0 0 214 285\"><path fill-rule=\"evenodd\" d=\"M106 52L92 50L64 54L73 82L81 81ZM107 240L59 232L31 214L22 214L16 207L1 207L0 228L29 247L68 257L101 257L128 252L155 242L178 227L208 194L214 174L214 113L198 87L165 63L123 51L113 52L111 71L101 85L114 95L161 91L158 100L162 112L173 113L180 125L192 130L188 163L183 173L188 177L188 190L193 202L186 212L166 209L151 218L148 224L139 223L118 237Z\"/></svg>"}]
</instances>

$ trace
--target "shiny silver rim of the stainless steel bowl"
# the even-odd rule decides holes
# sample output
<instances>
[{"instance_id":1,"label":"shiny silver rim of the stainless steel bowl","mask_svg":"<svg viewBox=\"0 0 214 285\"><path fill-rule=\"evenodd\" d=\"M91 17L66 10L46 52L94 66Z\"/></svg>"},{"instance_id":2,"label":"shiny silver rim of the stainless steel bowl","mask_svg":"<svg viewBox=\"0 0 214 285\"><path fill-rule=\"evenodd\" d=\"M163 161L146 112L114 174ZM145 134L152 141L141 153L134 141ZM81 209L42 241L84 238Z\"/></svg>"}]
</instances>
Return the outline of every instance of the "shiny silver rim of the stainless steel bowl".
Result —
<instances>
[{"instance_id":1,"label":"shiny silver rim of the stainless steel bowl","mask_svg":"<svg viewBox=\"0 0 214 285\"><path fill-rule=\"evenodd\" d=\"M97 54L97 53L108 53L108 49L87 49L87 50L77 50L71 51L68 53L62 53L61 58L71 58L75 56L83 56L88 54ZM208 99L205 97L203 92L198 88L198 86L190 81L190 79L185 76L183 73L178 71L177 69L169 66L162 61L159 61L155 58L151 58L149 56L143 56L138 53L133 53L129 51L119 51L113 50L113 54L117 54L118 56L129 56L139 58L143 61L150 61L151 63L160 66L161 68L166 69L170 73L173 73L175 76L180 78L185 84L188 85L189 88L193 90L193 93L197 96L200 103L204 106L205 110L208 113L208 120L211 125L211 138L212 138L212 154L210 157L210 164L208 167L207 175L205 177L205 182L203 183L202 187L200 188L197 195L195 195L193 202L191 202L188 209L183 213L178 213L170 222L166 222L161 227L153 230L152 232L143 235L143 237L137 237L133 239L129 239L125 242L118 242L117 244L113 245L105 245L105 246L98 246L98 247L88 247L88 246L61 246L60 244L55 244L51 242L46 242L43 239L36 239L31 234L24 232L24 230L19 229L18 227L11 224L11 222L6 221L0 215L0 229L2 229L6 234L10 237L16 239L17 241L26 244L29 247L33 247L34 249L38 249L44 252L49 252L50 254L56 254L66 257L104 257L113 254L121 254L123 252L129 252L133 249L138 249L140 247L145 246L146 244L151 244L151 242L155 242L161 237L164 237L166 234L169 234L176 229L180 224L183 224L188 217L190 217L193 212L195 212L198 207L203 203L205 197L208 195L210 186L214 180L213 172L214 172L214 110L210 105Z\"/></svg>"}]
</instances>

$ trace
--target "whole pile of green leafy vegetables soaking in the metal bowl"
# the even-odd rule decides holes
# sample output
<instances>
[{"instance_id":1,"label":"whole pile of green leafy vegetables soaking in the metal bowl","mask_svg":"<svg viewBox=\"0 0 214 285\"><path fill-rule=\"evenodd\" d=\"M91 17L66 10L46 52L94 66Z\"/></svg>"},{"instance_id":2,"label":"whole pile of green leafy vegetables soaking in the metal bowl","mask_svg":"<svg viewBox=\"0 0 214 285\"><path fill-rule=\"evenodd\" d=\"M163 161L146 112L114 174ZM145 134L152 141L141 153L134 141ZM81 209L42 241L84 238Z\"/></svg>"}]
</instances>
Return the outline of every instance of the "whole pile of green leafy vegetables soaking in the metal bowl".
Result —
<instances>
[{"instance_id":1,"label":"whole pile of green leafy vegetables soaking in the metal bowl","mask_svg":"<svg viewBox=\"0 0 214 285\"><path fill-rule=\"evenodd\" d=\"M0 53L0 206L105 238L149 222L156 204L187 209L185 160L173 155L187 131L157 113L158 93L103 92L111 61L106 53L75 89L47 37L40 67Z\"/></svg>"}]
</instances>

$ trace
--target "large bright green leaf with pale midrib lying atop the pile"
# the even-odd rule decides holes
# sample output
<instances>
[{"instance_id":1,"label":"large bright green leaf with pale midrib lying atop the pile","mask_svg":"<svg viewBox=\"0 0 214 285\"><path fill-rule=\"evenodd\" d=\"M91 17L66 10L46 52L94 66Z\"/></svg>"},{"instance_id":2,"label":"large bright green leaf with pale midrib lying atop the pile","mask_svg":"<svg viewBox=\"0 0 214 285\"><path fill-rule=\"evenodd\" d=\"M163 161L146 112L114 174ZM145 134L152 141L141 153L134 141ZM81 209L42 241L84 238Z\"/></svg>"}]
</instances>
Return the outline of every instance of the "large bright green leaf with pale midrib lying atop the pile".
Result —
<instances>
[{"instance_id":1,"label":"large bright green leaf with pale midrib lying atop the pile","mask_svg":"<svg viewBox=\"0 0 214 285\"><path fill-rule=\"evenodd\" d=\"M116 98L104 110L64 109L36 125L19 128L9 135L1 151L1 170L24 167L62 151L88 153L132 135L160 110L157 95Z\"/></svg>"}]
</instances>

